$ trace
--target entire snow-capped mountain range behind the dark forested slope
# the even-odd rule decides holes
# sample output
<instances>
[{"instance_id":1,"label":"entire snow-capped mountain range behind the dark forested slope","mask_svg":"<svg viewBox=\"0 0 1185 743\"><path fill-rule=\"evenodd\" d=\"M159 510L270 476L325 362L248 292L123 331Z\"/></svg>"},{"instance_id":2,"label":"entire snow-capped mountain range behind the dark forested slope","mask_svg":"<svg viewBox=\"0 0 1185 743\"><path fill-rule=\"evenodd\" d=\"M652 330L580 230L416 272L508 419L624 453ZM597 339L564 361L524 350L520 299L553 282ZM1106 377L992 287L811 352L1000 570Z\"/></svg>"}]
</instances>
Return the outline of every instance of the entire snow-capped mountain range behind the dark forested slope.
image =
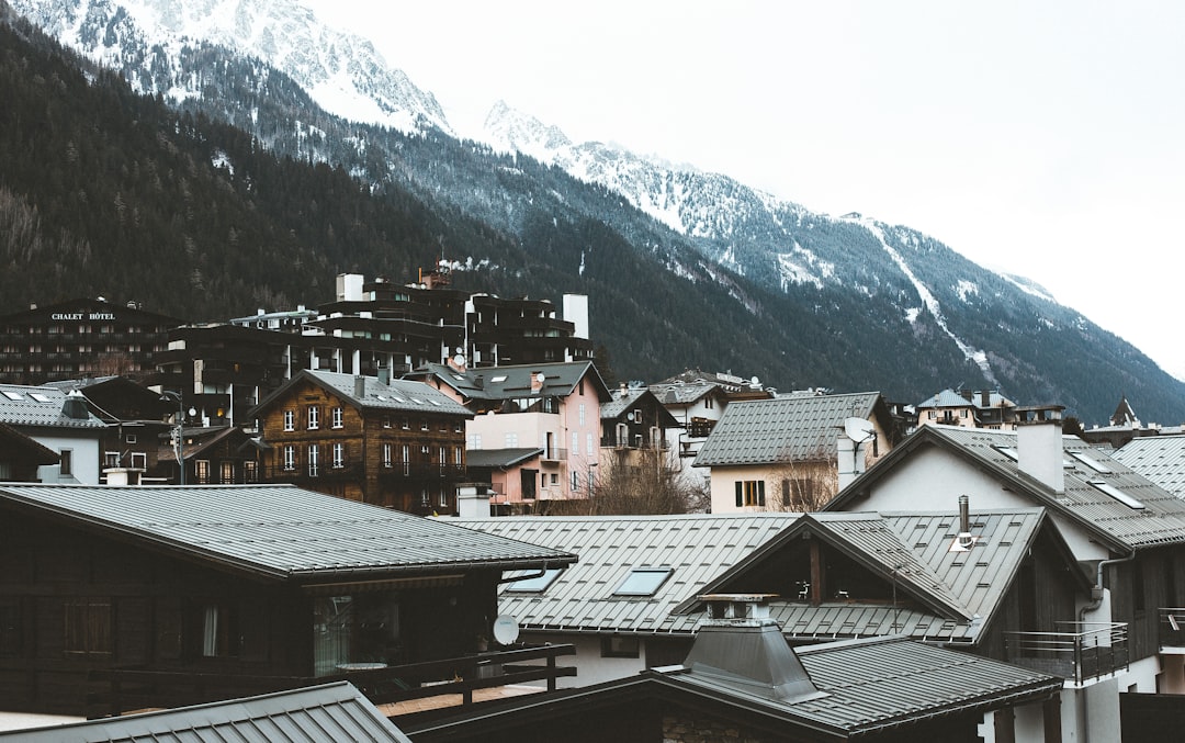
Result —
<instances>
[{"instance_id":1,"label":"entire snow-capped mountain range behind the dark forested slope","mask_svg":"<svg viewBox=\"0 0 1185 743\"><path fill-rule=\"evenodd\" d=\"M505 104L486 120L487 145L462 142L430 92L389 68L370 41L320 24L299 0L9 2L85 57L118 69L135 90L225 120L297 160L341 165L376 192L408 188L441 219L513 237L524 262L547 263L579 290L620 287L622 250L655 262L664 275L645 278L664 284L665 305L645 289L616 307L594 302L602 332L636 344L633 353L653 357L654 344L639 339L623 313L693 327L703 313L760 350L761 360L750 354L743 363L763 378L888 386L907 377L909 395L923 397L986 384L1098 421L1120 393L1154 377L1164 387L1159 399L1168 401L1162 406L1185 414L1181 385L1121 339L1031 282L988 271L911 228L814 213L726 175L576 143ZM457 257L459 268L491 265L488 256ZM506 268L512 280L530 273ZM675 297L687 303L677 309ZM728 351L719 346L706 339L705 347ZM1066 365L1088 354L1089 370Z\"/></svg>"}]
</instances>

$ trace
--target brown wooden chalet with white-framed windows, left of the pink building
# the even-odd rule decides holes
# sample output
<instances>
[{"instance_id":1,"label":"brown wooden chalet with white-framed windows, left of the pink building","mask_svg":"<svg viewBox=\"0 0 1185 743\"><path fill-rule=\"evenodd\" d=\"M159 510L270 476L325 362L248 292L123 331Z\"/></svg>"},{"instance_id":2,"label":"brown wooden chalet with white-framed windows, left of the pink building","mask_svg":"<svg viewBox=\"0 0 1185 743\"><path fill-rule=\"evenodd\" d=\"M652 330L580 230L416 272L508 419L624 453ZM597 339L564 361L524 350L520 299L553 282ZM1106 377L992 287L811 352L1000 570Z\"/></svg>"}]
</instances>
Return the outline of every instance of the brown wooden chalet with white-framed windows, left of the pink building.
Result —
<instances>
[{"instance_id":1,"label":"brown wooden chalet with white-framed windows, left of the pink building","mask_svg":"<svg viewBox=\"0 0 1185 743\"><path fill-rule=\"evenodd\" d=\"M419 382L302 371L251 416L261 479L409 513L455 513L473 414Z\"/></svg>"}]
</instances>

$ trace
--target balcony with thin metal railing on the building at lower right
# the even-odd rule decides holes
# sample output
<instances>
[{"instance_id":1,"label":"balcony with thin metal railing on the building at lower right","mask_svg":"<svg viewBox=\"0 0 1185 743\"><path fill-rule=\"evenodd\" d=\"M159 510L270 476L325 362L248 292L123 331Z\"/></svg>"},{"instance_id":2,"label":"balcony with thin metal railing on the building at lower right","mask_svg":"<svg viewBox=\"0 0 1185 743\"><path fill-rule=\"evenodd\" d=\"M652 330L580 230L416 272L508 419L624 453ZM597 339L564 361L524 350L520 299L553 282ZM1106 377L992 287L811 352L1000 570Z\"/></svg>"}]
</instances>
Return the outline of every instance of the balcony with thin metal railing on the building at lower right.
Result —
<instances>
[{"instance_id":1,"label":"balcony with thin metal railing on the building at lower right","mask_svg":"<svg viewBox=\"0 0 1185 743\"><path fill-rule=\"evenodd\" d=\"M1082 685L1127 668L1126 622L1057 622L1062 632L1004 633L1005 660Z\"/></svg>"}]
</instances>

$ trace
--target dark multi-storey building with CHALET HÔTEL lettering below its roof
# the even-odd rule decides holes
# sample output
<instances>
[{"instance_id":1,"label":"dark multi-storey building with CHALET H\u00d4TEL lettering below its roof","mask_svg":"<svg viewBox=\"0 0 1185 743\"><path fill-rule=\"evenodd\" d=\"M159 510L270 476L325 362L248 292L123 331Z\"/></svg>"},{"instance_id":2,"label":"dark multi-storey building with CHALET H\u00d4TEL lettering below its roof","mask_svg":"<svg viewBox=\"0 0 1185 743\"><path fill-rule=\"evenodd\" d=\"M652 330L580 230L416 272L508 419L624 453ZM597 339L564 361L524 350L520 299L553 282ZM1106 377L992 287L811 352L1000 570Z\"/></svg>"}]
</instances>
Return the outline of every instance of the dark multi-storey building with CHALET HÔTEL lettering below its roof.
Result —
<instances>
[{"instance_id":1,"label":"dark multi-storey building with CHALET H\u00d4TEL lettering below its roof","mask_svg":"<svg viewBox=\"0 0 1185 743\"><path fill-rule=\"evenodd\" d=\"M148 378L168 331L184 321L113 305L71 300L0 316L0 383L44 384L83 376Z\"/></svg>"}]
</instances>

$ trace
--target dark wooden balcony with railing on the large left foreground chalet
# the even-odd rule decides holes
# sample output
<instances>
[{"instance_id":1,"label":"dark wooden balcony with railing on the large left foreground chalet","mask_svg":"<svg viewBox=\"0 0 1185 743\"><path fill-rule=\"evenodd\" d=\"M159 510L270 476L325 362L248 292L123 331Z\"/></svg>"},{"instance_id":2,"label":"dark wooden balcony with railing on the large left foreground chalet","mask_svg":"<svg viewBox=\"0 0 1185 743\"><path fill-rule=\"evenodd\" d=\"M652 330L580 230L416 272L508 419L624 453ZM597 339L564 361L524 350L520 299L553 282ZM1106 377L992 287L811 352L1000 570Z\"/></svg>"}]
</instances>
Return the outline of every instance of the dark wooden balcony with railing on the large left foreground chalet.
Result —
<instances>
[{"instance_id":1,"label":"dark wooden balcony with railing on the large left foreground chalet","mask_svg":"<svg viewBox=\"0 0 1185 743\"><path fill-rule=\"evenodd\" d=\"M461 705L468 706L473 704L473 692L479 688L545 680L547 691L555 691L557 679L576 675L575 667L559 666L556 659L575 654L576 648L571 645L543 645L402 666L342 667L341 673L319 677L244 675L187 668L105 668L90 673L92 685L102 691L89 694L88 717L190 706L331 681L352 683L376 705L460 694ZM401 712L396 707L386 713Z\"/></svg>"}]
</instances>

